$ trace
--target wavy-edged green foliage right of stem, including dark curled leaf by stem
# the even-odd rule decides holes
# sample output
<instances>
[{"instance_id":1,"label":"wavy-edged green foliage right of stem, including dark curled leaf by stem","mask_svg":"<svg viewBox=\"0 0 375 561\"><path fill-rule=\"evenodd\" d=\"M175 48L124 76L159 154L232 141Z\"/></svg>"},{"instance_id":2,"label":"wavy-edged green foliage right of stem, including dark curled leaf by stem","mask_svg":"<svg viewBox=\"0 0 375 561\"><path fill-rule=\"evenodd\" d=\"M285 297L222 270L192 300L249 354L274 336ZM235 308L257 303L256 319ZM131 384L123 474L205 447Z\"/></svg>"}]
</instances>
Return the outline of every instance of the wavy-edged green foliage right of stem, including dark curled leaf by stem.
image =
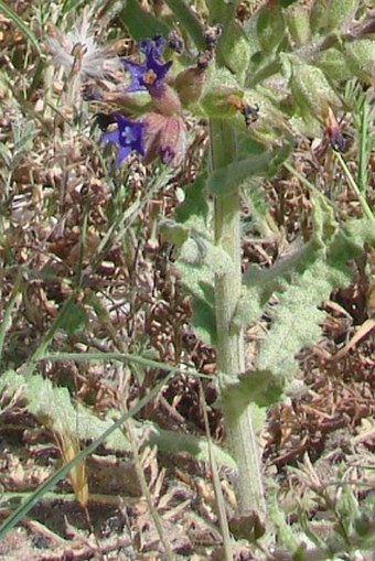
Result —
<instances>
[{"instance_id":1,"label":"wavy-edged green foliage right of stem, including dark curled leaf by stem","mask_svg":"<svg viewBox=\"0 0 375 561\"><path fill-rule=\"evenodd\" d=\"M223 390L232 393L226 399L236 408L247 401L267 406L280 398L297 374L296 355L319 338L324 320L319 306L332 290L350 282L350 261L364 251L365 244L375 242L368 219L352 219L340 227L322 198L314 199L314 224L308 244L270 269L253 266L245 276L234 323L248 325L266 311L270 325L259 342L254 373L227 380ZM269 305L271 295L277 303Z\"/></svg>"}]
</instances>

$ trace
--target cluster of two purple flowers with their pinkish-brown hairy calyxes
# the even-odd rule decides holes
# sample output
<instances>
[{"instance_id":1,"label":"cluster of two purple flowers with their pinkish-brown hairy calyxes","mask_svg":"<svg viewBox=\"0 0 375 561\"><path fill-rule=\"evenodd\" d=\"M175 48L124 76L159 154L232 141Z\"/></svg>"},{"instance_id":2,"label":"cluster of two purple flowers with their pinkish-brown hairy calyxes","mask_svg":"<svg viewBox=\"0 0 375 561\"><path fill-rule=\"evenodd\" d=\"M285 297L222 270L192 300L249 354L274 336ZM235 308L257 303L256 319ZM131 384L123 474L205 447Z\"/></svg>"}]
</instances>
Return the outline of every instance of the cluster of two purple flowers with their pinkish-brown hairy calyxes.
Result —
<instances>
[{"instance_id":1,"label":"cluster of two purple flowers with their pinkish-brown hairy calyxes","mask_svg":"<svg viewBox=\"0 0 375 561\"><path fill-rule=\"evenodd\" d=\"M132 150L143 157L146 164L160 158L163 163L179 165L186 152L186 129L179 95L167 82L172 62L162 58L165 40L157 35L141 41L138 46L143 55L141 62L122 61L131 78L126 93L147 90L151 110L133 120L119 112L107 116L105 126L114 123L116 128L104 132L101 140L117 145L116 165ZM100 119L103 126L103 117Z\"/></svg>"}]
</instances>

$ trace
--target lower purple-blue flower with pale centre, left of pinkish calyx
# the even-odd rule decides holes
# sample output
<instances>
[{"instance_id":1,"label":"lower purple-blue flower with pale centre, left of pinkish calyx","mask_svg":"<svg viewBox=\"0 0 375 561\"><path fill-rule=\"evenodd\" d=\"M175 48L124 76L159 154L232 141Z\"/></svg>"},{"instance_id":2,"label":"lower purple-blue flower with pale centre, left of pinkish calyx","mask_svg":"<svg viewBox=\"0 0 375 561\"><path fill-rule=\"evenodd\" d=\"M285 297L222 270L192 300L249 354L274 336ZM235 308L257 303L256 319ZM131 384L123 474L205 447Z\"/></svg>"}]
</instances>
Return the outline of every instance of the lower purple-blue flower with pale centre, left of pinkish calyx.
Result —
<instances>
[{"instance_id":1,"label":"lower purple-blue flower with pale centre, left of pinkish calyx","mask_svg":"<svg viewBox=\"0 0 375 561\"><path fill-rule=\"evenodd\" d=\"M120 114L111 114L108 116L110 118L109 122L116 122L117 129L111 130L109 132L105 132L101 134L100 140L103 142L114 142L119 147L115 165L118 168L121 162L126 159L126 157L132 151L136 150L141 155L144 154L143 148L143 123L131 121L124 117Z\"/></svg>"}]
</instances>

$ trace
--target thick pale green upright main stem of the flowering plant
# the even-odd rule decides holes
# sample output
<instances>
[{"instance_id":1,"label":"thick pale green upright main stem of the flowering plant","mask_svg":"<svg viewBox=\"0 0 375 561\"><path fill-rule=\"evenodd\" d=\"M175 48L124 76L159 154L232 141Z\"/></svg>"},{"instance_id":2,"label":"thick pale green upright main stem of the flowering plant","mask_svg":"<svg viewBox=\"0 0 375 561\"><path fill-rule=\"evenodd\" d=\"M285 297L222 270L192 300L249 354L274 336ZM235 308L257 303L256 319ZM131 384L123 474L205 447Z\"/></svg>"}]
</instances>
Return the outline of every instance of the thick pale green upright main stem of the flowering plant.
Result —
<instances>
[{"instance_id":1,"label":"thick pale green upright main stem of the flowering plant","mask_svg":"<svg viewBox=\"0 0 375 561\"><path fill-rule=\"evenodd\" d=\"M211 171L235 160L235 131L222 119L211 119ZM215 242L232 258L233 267L215 277L215 311L217 328L217 365L221 373L233 377L245 371L244 333L232 320L242 290L239 192L216 195L214 207ZM224 422L228 446L238 467L237 504L240 513L265 514L265 497L256 435L250 406L233 411L224 406Z\"/></svg>"}]
</instances>

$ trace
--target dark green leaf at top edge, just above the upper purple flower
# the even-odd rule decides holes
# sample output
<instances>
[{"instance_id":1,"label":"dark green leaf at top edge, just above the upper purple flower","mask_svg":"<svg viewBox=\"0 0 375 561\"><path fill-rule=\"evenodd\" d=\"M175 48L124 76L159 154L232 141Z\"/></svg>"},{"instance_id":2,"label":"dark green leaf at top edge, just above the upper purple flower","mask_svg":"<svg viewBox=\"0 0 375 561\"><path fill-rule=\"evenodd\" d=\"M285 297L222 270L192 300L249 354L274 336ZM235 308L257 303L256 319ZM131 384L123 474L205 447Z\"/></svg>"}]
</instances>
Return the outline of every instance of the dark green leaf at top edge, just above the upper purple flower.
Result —
<instances>
[{"instance_id":1,"label":"dark green leaf at top edge, just above the upper purple flower","mask_svg":"<svg viewBox=\"0 0 375 561\"><path fill-rule=\"evenodd\" d=\"M130 35L137 41L158 34L168 35L170 31L163 21L143 10L138 0L126 0L119 18Z\"/></svg>"}]
</instances>

